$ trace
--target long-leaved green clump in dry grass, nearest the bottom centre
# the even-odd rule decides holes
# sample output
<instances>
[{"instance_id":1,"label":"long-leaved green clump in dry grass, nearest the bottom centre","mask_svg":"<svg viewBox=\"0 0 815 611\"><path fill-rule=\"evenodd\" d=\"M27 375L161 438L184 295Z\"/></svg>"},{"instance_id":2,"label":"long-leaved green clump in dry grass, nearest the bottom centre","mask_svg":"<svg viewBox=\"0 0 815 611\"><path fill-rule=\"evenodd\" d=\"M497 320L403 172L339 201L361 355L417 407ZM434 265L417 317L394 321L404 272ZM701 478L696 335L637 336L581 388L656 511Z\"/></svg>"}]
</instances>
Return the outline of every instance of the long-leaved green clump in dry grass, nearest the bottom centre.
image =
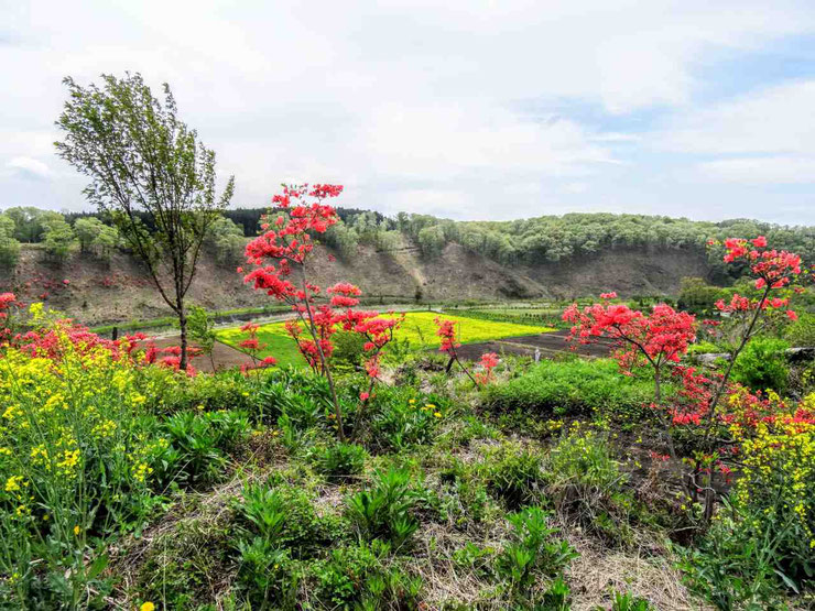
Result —
<instances>
[{"instance_id":1,"label":"long-leaved green clump in dry grass, nearest the bottom centre","mask_svg":"<svg viewBox=\"0 0 815 611\"><path fill-rule=\"evenodd\" d=\"M412 510L420 494L411 479L406 469L377 471L373 485L348 500L349 516L363 539L381 538L399 548L419 528Z\"/></svg>"}]
</instances>

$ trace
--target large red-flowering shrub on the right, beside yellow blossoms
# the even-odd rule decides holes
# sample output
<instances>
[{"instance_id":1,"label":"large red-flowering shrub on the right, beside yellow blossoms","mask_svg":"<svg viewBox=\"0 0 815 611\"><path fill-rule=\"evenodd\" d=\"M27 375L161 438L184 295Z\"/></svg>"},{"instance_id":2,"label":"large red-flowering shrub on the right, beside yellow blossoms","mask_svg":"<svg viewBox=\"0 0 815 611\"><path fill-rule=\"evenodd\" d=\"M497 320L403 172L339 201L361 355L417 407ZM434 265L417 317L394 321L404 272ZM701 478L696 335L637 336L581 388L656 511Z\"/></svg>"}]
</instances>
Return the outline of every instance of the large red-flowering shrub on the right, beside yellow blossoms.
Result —
<instances>
[{"instance_id":1,"label":"large red-flowering shrub on the right, beside yellow blossoms","mask_svg":"<svg viewBox=\"0 0 815 611\"><path fill-rule=\"evenodd\" d=\"M687 432L696 448L685 459L689 470L683 483L693 500L704 494L705 515L713 515L717 476L729 480L731 467L727 463L738 455L738 440L753 435L759 425L775 424L779 418L789 425L789 411L778 396L763 397L752 394L730 382L734 363L745 346L774 319L795 319L789 297L778 292L790 287L802 273L801 258L768 247L763 237L754 240L728 239L725 241L724 260L746 264L759 291L758 296L735 294L729 303L716 304L719 320L703 323L708 334L722 339L729 336L730 361L724 373L704 373L689 367L675 364L694 340L694 318L677 313L666 305L655 306L650 316L634 312L626 305L608 303L613 293L601 295L602 303L579 309L569 306L564 320L573 323L570 339L593 342L610 338L616 342L616 357L623 372L632 367L650 365L654 371L654 407L664 416L671 456L676 459L673 438ZM678 391L671 403L663 405L660 381L663 365L673 363L671 374ZM809 415L801 415L803 419ZM794 418L795 416L793 416ZM807 425L811 424L807 421ZM727 439L728 432L735 439ZM674 460L674 462L676 462Z\"/></svg>"}]
</instances>

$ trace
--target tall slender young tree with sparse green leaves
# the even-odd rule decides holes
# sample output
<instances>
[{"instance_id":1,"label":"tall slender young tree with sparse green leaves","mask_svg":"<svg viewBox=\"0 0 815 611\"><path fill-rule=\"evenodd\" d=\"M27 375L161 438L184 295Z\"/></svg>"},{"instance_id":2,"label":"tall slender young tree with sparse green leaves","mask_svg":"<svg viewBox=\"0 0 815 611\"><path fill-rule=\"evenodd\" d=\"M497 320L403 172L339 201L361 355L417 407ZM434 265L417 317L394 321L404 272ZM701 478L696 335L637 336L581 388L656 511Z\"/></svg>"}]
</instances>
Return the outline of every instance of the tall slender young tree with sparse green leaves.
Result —
<instances>
[{"instance_id":1,"label":"tall slender young tree with sparse green leaves","mask_svg":"<svg viewBox=\"0 0 815 611\"><path fill-rule=\"evenodd\" d=\"M215 152L178 118L170 86L153 97L141 75L102 75L101 87L64 80L68 99L56 124L61 157L90 177L85 195L109 212L178 317L182 370L187 367L185 296L202 243L229 204L230 177L215 188Z\"/></svg>"}]
</instances>

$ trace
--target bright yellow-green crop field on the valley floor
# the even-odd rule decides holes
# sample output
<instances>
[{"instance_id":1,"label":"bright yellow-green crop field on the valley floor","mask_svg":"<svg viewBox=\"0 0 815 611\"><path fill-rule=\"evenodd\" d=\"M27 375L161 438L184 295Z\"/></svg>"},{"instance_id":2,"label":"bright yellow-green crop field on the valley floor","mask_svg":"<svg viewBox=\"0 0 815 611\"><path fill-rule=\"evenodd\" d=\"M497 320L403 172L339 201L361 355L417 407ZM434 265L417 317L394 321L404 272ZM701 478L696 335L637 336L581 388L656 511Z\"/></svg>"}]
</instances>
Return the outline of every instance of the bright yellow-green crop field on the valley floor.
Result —
<instances>
[{"instance_id":1,"label":"bright yellow-green crop field on the valley floor","mask_svg":"<svg viewBox=\"0 0 815 611\"><path fill-rule=\"evenodd\" d=\"M409 312L402 327L396 331L396 338L410 341L414 348L437 348L439 340L436 337L436 326L433 323L437 316L439 315L435 312ZM448 320L455 320L458 339L461 343L487 341L502 337L537 335L553 330L541 326L481 320L448 314L442 316ZM218 331L218 339L235 348L238 348L238 345L244 338L246 336L241 332L240 327ZM268 345L261 357L272 356L283 367L304 363L297 348L286 334L283 323L270 323L261 326L258 329L258 339L261 343Z\"/></svg>"}]
</instances>

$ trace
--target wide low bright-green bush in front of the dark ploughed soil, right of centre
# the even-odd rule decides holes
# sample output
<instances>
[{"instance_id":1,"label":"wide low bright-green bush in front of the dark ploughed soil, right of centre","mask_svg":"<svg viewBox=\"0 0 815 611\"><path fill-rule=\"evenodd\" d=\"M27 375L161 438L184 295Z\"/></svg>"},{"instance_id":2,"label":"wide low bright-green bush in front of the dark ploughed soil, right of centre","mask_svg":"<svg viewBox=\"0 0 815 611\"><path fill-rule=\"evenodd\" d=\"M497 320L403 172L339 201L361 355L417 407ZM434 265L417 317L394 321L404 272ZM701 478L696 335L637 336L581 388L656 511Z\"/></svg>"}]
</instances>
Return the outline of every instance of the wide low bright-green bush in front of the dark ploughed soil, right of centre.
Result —
<instances>
[{"instance_id":1,"label":"wide low bright-green bush in front of the dark ploughed soil, right of centre","mask_svg":"<svg viewBox=\"0 0 815 611\"><path fill-rule=\"evenodd\" d=\"M665 389L670 392L670 386ZM544 415L606 413L622 421L640 418L653 400L653 382L620 375L616 362L569 359L543 361L520 378L490 386L486 403L498 411Z\"/></svg>"}]
</instances>

